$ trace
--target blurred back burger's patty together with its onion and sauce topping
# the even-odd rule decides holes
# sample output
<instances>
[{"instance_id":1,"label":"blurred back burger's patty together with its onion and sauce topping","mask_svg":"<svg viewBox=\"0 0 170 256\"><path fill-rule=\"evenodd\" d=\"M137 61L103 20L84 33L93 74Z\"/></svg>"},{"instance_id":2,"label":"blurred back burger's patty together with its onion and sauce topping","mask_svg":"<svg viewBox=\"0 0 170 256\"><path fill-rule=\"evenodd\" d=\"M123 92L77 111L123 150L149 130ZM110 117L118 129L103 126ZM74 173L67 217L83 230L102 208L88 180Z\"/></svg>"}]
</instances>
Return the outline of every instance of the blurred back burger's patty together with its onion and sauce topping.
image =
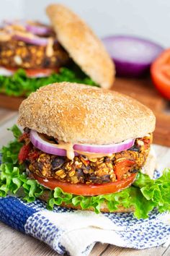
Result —
<instances>
[{"instance_id":1,"label":"blurred back burger's patty together with its onion and sauce topping","mask_svg":"<svg viewBox=\"0 0 170 256\"><path fill-rule=\"evenodd\" d=\"M30 25L30 22L27 22ZM27 31L27 25L16 22L4 24L0 29L0 65L8 68L44 69L66 65L69 56L62 46L55 40L54 31L38 22L34 22L35 33L37 27L46 29L43 35L36 35ZM46 40L43 43L42 40Z\"/></svg>"}]
</instances>

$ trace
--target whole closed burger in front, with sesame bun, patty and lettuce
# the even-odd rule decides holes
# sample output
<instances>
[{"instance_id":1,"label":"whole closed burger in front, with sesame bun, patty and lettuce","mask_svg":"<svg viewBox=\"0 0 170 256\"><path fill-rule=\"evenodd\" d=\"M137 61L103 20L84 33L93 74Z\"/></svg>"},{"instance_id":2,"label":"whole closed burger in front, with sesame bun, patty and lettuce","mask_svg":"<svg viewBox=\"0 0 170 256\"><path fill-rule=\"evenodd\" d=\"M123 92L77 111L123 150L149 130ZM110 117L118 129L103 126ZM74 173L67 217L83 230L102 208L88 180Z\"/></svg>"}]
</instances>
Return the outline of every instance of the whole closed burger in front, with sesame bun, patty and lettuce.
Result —
<instances>
[{"instance_id":1,"label":"whole closed burger in front, with sesame bun, patty and lettuce","mask_svg":"<svg viewBox=\"0 0 170 256\"><path fill-rule=\"evenodd\" d=\"M1 150L1 196L19 193L96 213L147 218L170 210L170 169L153 180L153 112L126 95L61 82L32 93L19 107L16 138Z\"/></svg>"}]
</instances>

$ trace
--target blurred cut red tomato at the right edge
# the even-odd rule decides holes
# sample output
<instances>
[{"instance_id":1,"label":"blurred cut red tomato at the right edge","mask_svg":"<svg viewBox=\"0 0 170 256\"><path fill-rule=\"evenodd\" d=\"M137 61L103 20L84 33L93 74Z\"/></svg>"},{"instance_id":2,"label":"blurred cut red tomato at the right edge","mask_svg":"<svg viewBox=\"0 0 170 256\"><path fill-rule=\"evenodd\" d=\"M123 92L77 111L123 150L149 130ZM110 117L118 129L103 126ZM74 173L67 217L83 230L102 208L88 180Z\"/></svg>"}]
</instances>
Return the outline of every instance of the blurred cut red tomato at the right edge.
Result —
<instances>
[{"instance_id":1,"label":"blurred cut red tomato at the right edge","mask_svg":"<svg viewBox=\"0 0 170 256\"><path fill-rule=\"evenodd\" d=\"M170 48L153 61L151 77L158 91L170 99Z\"/></svg>"}]
</instances>

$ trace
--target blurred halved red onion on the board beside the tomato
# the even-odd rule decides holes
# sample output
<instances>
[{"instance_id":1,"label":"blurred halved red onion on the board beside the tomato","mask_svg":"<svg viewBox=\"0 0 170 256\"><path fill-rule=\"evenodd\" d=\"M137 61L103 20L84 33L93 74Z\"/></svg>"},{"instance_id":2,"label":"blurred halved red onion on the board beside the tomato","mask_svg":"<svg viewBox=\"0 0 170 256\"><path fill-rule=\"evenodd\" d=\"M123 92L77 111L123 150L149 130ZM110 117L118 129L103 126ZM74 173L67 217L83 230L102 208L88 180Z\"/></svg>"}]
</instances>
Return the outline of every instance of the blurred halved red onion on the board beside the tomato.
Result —
<instances>
[{"instance_id":1,"label":"blurred halved red onion on the board beside the tomato","mask_svg":"<svg viewBox=\"0 0 170 256\"><path fill-rule=\"evenodd\" d=\"M151 40L130 35L111 35L103 38L103 43L115 62L119 76L138 77L145 74L164 50Z\"/></svg>"}]
</instances>

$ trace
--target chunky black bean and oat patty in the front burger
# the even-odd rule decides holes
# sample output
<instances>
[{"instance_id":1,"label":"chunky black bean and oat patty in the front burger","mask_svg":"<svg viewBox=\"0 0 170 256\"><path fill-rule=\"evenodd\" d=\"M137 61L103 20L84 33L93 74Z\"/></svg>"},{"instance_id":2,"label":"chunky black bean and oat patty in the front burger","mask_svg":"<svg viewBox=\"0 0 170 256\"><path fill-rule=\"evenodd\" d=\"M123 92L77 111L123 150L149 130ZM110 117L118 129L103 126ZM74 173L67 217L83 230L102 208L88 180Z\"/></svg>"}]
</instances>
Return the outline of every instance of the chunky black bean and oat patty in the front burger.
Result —
<instances>
[{"instance_id":1,"label":"chunky black bean and oat patty in the front burger","mask_svg":"<svg viewBox=\"0 0 170 256\"><path fill-rule=\"evenodd\" d=\"M53 137L48 137L48 140L56 142ZM24 129L19 141L24 142L19 152L19 161L27 166L30 173L71 184L104 184L127 179L143 167L150 150L152 134L137 138L132 148L120 153L100 158L88 158L82 153L73 160L35 148L30 141L30 129Z\"/></svg>"}]
</instances>

